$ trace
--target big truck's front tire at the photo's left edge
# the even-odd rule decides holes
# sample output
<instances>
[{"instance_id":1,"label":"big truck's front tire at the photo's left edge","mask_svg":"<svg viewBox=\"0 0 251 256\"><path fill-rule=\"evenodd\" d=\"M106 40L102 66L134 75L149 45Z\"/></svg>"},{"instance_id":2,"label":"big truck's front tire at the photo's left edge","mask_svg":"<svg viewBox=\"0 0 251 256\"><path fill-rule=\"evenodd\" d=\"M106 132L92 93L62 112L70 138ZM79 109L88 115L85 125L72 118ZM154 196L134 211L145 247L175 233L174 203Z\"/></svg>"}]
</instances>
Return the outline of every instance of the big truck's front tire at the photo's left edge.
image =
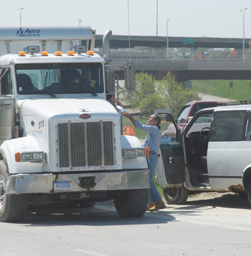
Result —
<instances>
[{"instance_id":1,"label":"big truck's front tire at the photo's left edge","mask_svg":"<svg viewBox=\"0 0 251 256\"><path fill-rule=\"evenodd\" d=\"M5 194L7 182L7 167L4 161L0 161L0 221L21 221L25 217L28 195L27 194Z\"/></svg>"}]
</instances>

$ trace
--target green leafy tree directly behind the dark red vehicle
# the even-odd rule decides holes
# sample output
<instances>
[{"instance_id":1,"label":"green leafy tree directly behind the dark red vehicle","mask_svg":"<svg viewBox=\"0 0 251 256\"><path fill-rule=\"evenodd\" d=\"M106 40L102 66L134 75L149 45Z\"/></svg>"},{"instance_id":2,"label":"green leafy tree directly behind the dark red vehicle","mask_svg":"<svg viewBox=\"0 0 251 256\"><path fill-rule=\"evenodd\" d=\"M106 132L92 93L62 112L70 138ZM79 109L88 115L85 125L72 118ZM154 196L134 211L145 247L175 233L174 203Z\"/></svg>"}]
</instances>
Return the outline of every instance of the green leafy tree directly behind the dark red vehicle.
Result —
<instances>
[{"instance_id":1,"label":"green leafy tree directly behind the dark red vehicle","mask_svg":"<svg viewBox=\"0 0 251 256\"><path fill-rule=\"evenodd\" d=\"M158 84L157 90L158 95L164 100L164 108L172 111L175 116L186 103L201 100L197 92L183 89L182 84L175 80L171 72L168 72L162 83Z\"/></svg>"}]
</instances>

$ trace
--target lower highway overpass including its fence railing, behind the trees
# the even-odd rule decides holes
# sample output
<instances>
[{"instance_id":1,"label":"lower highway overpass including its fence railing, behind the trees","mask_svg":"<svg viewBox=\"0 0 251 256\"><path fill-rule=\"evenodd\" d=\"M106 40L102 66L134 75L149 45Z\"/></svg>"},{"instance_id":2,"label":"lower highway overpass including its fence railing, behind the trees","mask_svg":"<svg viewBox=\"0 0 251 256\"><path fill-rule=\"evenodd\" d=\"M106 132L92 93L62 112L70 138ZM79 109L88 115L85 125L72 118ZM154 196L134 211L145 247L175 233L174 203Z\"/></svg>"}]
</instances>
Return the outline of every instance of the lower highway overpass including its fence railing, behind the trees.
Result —
<instances>
[{"instance_id":1,"label":"lower highway overpass including its fence railing, behind the trees","mask_svg":"<svg viewBox=\"0 0 251 256\"><path fill-rule=\"evenodd\" d=\"M97 52L102 55L102 52ZM203 53L192 51L190 55L170 54L167 59L166 50L131 52L111 51L111 65L131 63L136 72L148 72L157 80L162 80L167 72L172 72L177 81L188 80L251 80L251 50L214 51ZM185 59L185 57L188 57ZM123 68L113 67L120 79L124 78Z\"/></svg>"}]
</instances>

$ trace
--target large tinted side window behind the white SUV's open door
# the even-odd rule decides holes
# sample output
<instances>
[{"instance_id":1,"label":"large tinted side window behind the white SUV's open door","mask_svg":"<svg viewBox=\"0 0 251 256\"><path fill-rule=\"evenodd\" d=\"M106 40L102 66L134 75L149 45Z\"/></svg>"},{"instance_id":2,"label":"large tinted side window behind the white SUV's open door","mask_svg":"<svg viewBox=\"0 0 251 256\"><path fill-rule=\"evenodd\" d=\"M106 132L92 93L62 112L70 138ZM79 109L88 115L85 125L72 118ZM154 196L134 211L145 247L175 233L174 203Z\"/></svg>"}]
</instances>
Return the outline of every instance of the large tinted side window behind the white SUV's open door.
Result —
<instances>
[{"instance_id":1,"label":"large tinted side window behind the white SUV's open door","mask_svg":"<svg viewBox=\"0 0 251 256\"><path fill-rule=\"evenodd\" d=\"M213 115L210 141L242 141L247 111L218 111Z\"/></svg>"}]
</instances>

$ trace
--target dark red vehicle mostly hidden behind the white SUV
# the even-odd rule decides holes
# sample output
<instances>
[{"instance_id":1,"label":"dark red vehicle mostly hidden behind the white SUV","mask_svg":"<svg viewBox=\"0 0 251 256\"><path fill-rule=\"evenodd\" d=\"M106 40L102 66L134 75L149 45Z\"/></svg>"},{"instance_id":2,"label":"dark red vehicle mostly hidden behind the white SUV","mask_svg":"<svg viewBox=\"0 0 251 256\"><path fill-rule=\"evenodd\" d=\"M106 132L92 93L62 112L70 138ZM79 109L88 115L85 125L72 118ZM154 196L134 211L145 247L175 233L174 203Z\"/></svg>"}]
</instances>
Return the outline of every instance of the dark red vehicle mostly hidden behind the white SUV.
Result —
<instances>
[{"instance_id":1,"label":"dark red vehicle mostly hidden behind the white SUV","mask_svg":"<svg viewBox=\"0 0 251 256\"><path fill-rule=\"evenodd\" d=\"M204 108L214 108L215 106L220 106L226 102L218 101L192 101L186 103L180 110L176 118L177 126L179 127L180 134L183 133L185 127L188 125L189 120L201 109ZM175 126L170 124L167 130L161 133L162 136L171 135L172 138L176 137Z\"/></svg>"}]
</instances>

